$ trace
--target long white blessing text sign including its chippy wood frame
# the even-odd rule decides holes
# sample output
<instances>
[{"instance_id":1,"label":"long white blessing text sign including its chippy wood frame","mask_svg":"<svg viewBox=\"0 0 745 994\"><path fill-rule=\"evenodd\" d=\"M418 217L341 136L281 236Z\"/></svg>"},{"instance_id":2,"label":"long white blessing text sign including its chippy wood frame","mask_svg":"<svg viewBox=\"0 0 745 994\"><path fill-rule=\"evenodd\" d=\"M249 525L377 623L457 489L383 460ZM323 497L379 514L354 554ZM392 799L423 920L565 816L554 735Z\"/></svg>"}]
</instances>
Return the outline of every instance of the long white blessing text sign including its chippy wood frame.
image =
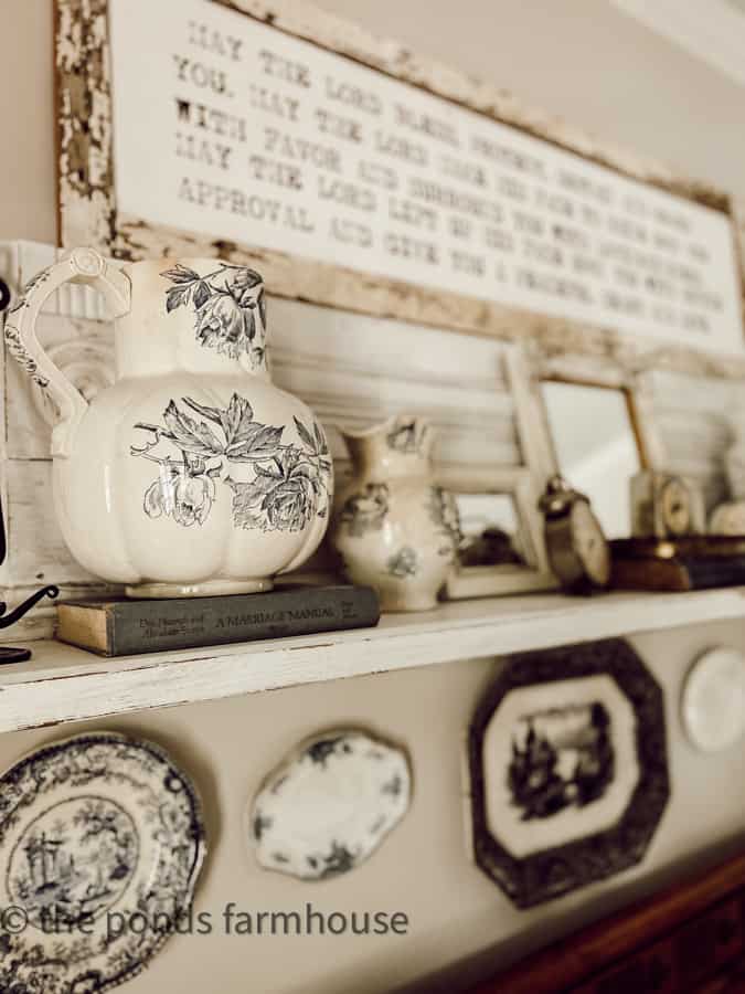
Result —
<instances>
[{"instance_id":1,"label":"long white blessing text sign including its chippy wood frame","mask_svg":"<svg viewBox=\"0 0 745 994\"><path fill-rule=\"evenodd\" d=\"M544 315L743 353L716 191L296 3L57 12L65 246L220 255L277 294L486 334Z\"/></svg>"}]
</instances>

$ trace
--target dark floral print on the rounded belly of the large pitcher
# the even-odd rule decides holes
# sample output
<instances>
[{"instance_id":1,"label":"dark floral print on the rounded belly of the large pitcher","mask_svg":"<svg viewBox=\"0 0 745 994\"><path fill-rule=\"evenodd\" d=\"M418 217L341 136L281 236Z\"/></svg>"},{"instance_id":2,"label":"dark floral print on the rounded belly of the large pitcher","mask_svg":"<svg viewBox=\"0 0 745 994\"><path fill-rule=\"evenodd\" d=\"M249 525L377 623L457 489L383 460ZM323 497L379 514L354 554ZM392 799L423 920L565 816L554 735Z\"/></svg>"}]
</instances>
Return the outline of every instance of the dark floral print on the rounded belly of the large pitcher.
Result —
<instances>
[{"instance_id":1,"label":"dark floral print on the rounded belly of the large pitcher","mask_svg":"<svg viewBox=\"0 0 745 994\"><path fill-rule=\"evenodd\" d=\"M151 438L131 445L131 455L159 467L145 493L148 517L166 515L187 528L204 525L219 499L215 482L232 490L233 524L238 528L302 531L313 517L328 515L331 459L316 422L310 430L295 417L300 444L288 445L281 441L285 427L256 421L249 402L237 393L226 408L205 406L188 396L180 403L170 401L164 425L135 425ZM235 479L234 469L225 472L231 464L248 468L251 478Z\"/></svg>"}]
</instances>

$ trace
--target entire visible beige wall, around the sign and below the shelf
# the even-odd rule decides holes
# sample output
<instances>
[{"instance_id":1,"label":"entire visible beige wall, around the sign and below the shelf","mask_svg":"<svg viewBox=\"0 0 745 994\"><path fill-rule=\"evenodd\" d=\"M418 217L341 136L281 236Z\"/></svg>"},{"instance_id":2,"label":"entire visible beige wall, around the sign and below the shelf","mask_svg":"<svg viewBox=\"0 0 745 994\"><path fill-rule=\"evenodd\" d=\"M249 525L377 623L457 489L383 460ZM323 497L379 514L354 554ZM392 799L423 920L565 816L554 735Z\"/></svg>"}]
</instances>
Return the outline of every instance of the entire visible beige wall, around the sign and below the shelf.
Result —
<instances>
[{"instance_id":1,"label":"entire visible beige wall, around the sign and below the shelf","mask_svg":"<svg viewBox=\"0 0 745 994\"><path fill-rule=\"evenodd\" d=\"M0 237L54 237L50 6L3 2ZM743 92L604 0L323 6L489 76L575 124L745 192ZM733 790L745 775L745 748L712 758L694 752L681 733L678 701L694 656L722 642L745 648L742 625L635 639L667 691L672 803L641 867L531 912L515 911L469 864L464 845L461 737L493 662L462 660L110 722L161 742L198 780L212 846L199 908L215 920L230 900L254 911L294 910L309 900L327 911L402 910L412 922L408 939L179 938L127 990L372 994L477 956L471 967L459 965L439 984L456 991L479 970L717 858L745 829L742 794ZM416 775L411 816L349 877L300 886L262 873L244 845L246 799L298 739L344 722L372 726L408 747ZM0 766L60 734L0 737ZM436 987L429 980L419 984L423 991Z\"/></svg>"}]
</instances>

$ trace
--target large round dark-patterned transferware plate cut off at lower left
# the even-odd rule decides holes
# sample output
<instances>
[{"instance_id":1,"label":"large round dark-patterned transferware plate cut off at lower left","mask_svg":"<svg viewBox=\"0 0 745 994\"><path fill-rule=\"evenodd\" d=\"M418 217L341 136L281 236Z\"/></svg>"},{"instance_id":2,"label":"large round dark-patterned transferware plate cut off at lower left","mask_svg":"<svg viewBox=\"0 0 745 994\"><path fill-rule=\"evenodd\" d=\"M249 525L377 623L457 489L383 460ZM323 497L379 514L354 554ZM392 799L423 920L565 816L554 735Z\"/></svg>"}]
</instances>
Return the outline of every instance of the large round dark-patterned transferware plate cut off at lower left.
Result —
<instances>
[{"instance_id":1,"label":"large round dark-patterned transferware plate cut off at lower left","mask_svg":"<svg viewBox=\"0 0 745 994\"><path fill-rule=\"evenodd\" d=\"M189 778L109 732L45 745L0 778L0 991L98 994L188 911L204 858Z\"/></svg>"}]
</instances>

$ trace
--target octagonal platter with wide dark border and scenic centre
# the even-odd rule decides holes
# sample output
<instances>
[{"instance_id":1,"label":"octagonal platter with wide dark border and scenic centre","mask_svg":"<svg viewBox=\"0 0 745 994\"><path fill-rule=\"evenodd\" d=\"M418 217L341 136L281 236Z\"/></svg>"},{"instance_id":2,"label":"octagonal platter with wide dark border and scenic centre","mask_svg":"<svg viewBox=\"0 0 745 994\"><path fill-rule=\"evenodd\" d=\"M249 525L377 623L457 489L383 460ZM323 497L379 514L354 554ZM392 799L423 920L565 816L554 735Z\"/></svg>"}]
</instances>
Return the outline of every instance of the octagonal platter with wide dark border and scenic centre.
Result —
<instances>
[{"instance_id":1,"label":"octagonal platter with wide dark border and scenic centre","mask_svg":"<svg viewBox=\"0 0 745 994\"><path fill-rule=\"evenodd\" d=\"M510 657L468 733L472 855L519 908L640 863L670 795L662 689L622 639Z\"/></svg>"}]
</instances>

